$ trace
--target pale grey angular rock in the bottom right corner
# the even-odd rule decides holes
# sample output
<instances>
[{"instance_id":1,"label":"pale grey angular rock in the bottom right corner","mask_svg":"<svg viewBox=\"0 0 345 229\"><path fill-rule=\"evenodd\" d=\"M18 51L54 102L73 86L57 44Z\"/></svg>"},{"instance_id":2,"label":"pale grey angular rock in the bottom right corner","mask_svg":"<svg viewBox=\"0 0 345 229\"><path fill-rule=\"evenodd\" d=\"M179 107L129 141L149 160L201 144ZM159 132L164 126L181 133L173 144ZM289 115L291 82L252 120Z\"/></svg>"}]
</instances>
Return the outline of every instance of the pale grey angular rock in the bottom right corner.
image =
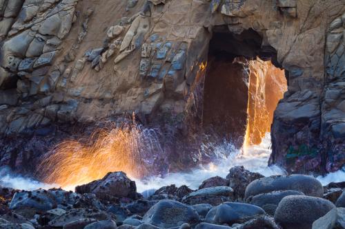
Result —
<instances>
[{"instance_id":1,"label":"pale grey angular rock in the bottom right corner","mask_svg":"<svg viewBox=\"0 0 345 229\"><path fill-rule=\"evenodd\" d=\"M333 208L313 222L313 229L345 228L345 208Z\"/></svg>"}]
</instances>

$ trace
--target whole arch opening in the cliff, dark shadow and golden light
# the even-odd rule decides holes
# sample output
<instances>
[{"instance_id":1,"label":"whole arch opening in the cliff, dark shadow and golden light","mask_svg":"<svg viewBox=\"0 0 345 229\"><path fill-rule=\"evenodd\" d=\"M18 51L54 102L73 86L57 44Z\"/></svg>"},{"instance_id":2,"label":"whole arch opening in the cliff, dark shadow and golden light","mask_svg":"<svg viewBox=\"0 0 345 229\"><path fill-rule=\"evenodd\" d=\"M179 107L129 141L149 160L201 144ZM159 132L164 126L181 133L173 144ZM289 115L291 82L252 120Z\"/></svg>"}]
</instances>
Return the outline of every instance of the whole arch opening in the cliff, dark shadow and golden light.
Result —
<instances>
[{"instance_id":1,"label":"whole arch opening in the cliff, dark shadow and golden light","mask_svg":"<svg viewBox=\"0 0 345 229\"><path fill-rule=\"evenodd\" d=\"M262 41L252 29L233 34L219 26L209 45L202 126L237 147L262 142L287 91L277 52Z\"/></svg>"}]
</instances>

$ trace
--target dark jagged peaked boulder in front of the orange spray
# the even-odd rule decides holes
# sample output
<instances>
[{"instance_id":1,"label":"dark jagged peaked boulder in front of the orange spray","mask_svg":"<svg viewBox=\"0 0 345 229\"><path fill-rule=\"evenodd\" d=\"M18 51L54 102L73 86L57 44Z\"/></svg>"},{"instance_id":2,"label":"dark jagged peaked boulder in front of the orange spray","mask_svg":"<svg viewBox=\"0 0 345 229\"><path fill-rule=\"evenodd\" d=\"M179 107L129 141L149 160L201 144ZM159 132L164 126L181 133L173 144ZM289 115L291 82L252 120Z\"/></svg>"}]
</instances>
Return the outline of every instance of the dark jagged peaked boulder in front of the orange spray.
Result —
<instances>
[{"instance_id":1,"label":"dark jagged peaked boulder in front of the orange spray","mask_svg":"<svg viewBox=\"0 0 345 229\"><path fill-rule=\"evenodd\" d=\"M102 179L77 186L77 193L94 193L99 198L129 197L137 198L137 186L123 172L108 173Z\"/></svg>"}]
</instances>

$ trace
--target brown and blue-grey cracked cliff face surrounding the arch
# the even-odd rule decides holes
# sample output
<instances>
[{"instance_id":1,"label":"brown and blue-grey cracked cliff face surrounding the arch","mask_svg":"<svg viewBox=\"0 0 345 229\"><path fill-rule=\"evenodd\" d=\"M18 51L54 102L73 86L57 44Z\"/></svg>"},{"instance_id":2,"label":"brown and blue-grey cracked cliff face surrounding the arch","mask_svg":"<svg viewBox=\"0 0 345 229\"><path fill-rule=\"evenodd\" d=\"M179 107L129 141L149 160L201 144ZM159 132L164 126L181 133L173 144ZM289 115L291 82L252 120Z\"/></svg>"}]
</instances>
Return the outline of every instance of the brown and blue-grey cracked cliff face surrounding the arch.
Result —
<instances>
[{"instance_id":1,"label":"brown and blue-grey cracked cliff face surrounding the arch","mask_svg":"<svg viewBox=\"0 0 345 229\"><path fill-rule=\"evenodd\" d=\"M342 0L0 0L0 133L37 138L135 112L186 134L202 121L217 50L286 70L270 163L335 171L345 162L344 13Z\"/></svg>"}]
</instances>

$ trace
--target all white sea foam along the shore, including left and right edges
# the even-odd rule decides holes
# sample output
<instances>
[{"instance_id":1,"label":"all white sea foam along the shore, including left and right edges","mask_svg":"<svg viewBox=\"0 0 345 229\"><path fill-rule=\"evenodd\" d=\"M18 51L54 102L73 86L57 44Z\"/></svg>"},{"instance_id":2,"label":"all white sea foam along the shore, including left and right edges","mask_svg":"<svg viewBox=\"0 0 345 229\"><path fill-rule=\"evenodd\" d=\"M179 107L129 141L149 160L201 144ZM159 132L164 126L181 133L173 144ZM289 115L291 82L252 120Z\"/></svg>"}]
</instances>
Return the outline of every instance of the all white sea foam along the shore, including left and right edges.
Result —
<instances>
[{"instance_id":1,"label":"all white sea foam along the shore, including left and right edges","mask_svg":"<svg viewBox=\"0 0 345 229\"><path fill-rule=\"evenodd\" d=\"M246 154L243 154L239 149L235 149L235 147L228 142L213 146L213 149L216 151L217 155L227 156L219 162L199 166L190 172L168 173L164 177L148 177L145 180L134 179L137 184L138 192L146 191L145 195L150 195L155 189L170 184L175 184L176 186L187 185L192 189L196 189L205 179L214 176L226 177L229 169L233 166L244 166L249 171L261 173L264 176L282 175L286 173L286 171L279 168L279 166L267 165L271 153L269 133L262 141L262 144L250 146ZM345 182L345 171L343 169L335 173L329 173L324 177L319 176L317 179L319 179L323 185L327 185L331 182ZM44 184L30 177L14 174L9 168L0 168L0 185L25 190L56 187L54 184ZM69 189L74 190L74 188L75 187L71 186Z\"/></svg>"}]
</instances>

